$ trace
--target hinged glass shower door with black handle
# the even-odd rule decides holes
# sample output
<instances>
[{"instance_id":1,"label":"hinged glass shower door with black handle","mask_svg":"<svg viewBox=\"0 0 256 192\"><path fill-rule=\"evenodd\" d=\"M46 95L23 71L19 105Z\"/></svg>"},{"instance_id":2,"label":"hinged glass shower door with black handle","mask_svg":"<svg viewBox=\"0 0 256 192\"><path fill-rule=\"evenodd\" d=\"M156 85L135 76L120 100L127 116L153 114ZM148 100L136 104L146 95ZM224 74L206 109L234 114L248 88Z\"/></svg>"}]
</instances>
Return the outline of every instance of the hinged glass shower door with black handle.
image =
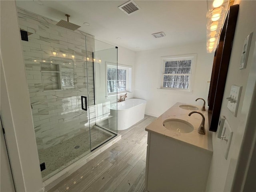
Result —
<instances>
[{"instance_id":1,"label":"hinged glass shower door with black handle","mask_svg":"<svg viewBox=\"0 0 256 192\"><path fill-rule=\"evenodd\" d=\"M66 168L90 149L86 39L37 16L18 13L24 64L42 178ZM31 24L33 23L33 24ZM87 101L88 102L88 101ZM84 103L85 104L85 103Z\"/></svg>"}]
</instances>

